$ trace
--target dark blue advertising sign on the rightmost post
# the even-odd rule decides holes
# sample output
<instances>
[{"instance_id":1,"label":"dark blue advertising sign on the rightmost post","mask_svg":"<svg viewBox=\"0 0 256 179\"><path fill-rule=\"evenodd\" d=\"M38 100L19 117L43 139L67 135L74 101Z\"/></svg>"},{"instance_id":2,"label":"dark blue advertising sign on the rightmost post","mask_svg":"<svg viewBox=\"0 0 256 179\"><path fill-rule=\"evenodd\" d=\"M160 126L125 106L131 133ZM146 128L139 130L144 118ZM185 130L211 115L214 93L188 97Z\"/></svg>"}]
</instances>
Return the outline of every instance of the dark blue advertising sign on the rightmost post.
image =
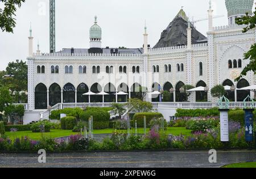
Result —
<instances>
[{"instance_id":1,"label":"dark blue advertising sign on the rightmost post","mask_svg":"<svg viewBox=\"0 0 256 179\"><path fill-rule=\"evenodd\" d=\"M245 140L253 142L253 110L245 109Z\"/></svg>"}]
</instances>

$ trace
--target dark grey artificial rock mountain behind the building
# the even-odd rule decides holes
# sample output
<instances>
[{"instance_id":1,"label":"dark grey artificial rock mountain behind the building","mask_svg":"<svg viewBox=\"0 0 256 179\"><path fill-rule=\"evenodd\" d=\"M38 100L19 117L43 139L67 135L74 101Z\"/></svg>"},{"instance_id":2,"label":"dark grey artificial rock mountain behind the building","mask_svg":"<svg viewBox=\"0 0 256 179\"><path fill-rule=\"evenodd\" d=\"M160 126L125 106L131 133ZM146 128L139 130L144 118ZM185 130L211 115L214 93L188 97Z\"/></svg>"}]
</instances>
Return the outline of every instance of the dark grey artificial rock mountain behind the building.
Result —
<instances>
[{"instance_id":1,"label":"dark grey artificial rock mountain behind the building","mask_svg":"<svg viewBox=\"0 0 256 179\"><path fill-rule=\"evenodd\" d=\"M168 46L187 45L187 28L188 17L181 9L176 15L174 20L168 25L168 27L162 32L160 40L154 46L154 48L163 48ZM192 44L199 42L207 42L207 38L196 30L191 24L192 29Z\"/></svg>"}]
</instances>

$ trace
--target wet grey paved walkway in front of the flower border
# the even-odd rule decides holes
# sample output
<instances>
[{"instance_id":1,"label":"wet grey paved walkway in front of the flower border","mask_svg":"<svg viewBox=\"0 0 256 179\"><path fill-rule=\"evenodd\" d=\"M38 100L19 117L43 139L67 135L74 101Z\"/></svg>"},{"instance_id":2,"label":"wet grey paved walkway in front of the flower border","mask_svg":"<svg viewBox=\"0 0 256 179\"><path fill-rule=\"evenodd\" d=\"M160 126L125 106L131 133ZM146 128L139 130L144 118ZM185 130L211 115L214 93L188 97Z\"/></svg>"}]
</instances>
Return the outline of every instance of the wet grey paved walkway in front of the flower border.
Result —
<instances>
[{"instance_id":1,"label":"wet grey paved walkway in front of the flower border","mask_svg":"<svg viewBox=\"0 0 256 179\"><path fill-rule=\"evenodd\" d=\"M47 154L46 164L39 164L38 156L37 154L0 154L0 167L221 167L230 163L256 161L256 151L217 151L216 164L209 163L208 151Z\"/></svg>"}]
</instances>

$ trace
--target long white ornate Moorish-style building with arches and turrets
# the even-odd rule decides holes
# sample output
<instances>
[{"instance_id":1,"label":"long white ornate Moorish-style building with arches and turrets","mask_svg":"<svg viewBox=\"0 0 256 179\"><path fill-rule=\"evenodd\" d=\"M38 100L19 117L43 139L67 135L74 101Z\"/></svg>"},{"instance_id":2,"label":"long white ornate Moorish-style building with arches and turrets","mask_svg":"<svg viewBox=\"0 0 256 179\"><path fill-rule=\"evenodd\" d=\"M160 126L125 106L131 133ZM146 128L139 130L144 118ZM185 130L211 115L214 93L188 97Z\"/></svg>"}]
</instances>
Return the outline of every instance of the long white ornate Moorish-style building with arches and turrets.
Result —
<instances>
[{"instance_id":1,"label":"long white ornate Moorish-style building with arches and turrets","mask_svg":"<svg viewBox=\"0 0 256 179\"><path fill-rule=\"evenodd\" d=\"M171 90L174 95L171 95L170 101L182 101L180 88L184 84L207 86L209 90L216 84L236 88L255 84L256 77L252 72L240 82L234 81L248 63L243 60L243 54L256 41L255 31L242 33L243 26L236 25L234 18L251 13L253 0L226 0L226 7L229 25L222 27L213 27L213 10L209 8L209 31L205 39L188 22L185 12L180 10L172 23L179 19L177 22L181 22L181 28L185 29L183 35L178 40L175 37L164 39L167 38L164 37L166 33L168 36L175 33L170 30L173 28L171 23L162 33L164 38L154 48L148 45L146 27L143 48L102 48L102 32L97 18L90 28L89 49L69 48L48 54L40 53L38 48L33 53L30 33L28 109L33 113L58 103L102 102L102 95L92 95L90 100L88 95L82 95L89 91L109 93L104 95L104 102L123 102L127 97L134 97L138 86L143 86L148 91ZM184 37L185 42L182 40ZM172 43L174 41L177 43ZM117 95L120 91L128 95ZM228 97L233 101L242 101L248 93L229 91ZM152 101L162 100L161 97L154 97ZM147 100L150 99L147 97ZM189 98L189 101L200 100L216 99L210 92L195 92Z\"/></svg>"}]
</instances>

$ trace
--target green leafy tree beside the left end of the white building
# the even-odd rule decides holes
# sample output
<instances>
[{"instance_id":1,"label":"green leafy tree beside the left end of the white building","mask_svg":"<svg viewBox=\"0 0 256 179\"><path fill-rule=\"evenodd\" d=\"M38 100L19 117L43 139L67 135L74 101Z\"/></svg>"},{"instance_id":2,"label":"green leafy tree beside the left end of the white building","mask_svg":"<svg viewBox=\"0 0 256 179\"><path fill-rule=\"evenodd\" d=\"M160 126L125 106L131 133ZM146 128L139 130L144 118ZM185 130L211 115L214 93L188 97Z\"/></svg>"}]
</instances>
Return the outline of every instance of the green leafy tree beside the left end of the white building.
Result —
<instances>
[{"instance_id":1,"label":"green leafy tree beside the left end of the white building","mask_svg":"<svg viewBox=\"0 0 256 179\"><path fill-rule=\"evenodd\" d=\"M6 67L6 74L13 75L4 79L5 86L11 90L22 91L27 90L27 63L18 59L10 62Z\"/></svg>"}]
</instances>

